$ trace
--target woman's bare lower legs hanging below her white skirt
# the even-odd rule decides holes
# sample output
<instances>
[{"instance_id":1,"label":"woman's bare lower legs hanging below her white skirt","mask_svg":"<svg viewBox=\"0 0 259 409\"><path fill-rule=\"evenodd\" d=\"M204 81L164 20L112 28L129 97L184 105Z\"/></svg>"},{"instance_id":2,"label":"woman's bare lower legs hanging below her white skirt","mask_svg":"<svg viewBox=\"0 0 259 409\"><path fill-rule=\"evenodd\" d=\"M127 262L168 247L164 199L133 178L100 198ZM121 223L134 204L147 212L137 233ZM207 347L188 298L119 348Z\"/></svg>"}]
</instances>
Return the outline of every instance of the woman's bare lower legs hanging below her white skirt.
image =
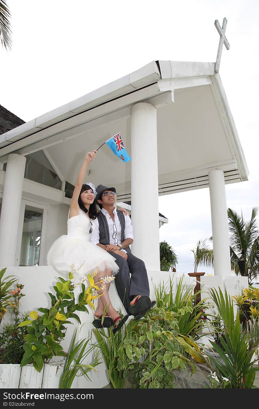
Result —
<instances>
[{"instance_id":1,"label":"woman's bare lower legs hanging below her white skirt","mask_svg":"<svg viewBox=\"0 0 259 409\"><path fill-rule=\"evenodd\" d=\"M95 311L95 316L99 317L100 315L102 315L102 313L105 310L106 314L114 320L116 317L118 317L119 314L115 310L115 308L113 308L112 303L110 301L110 297L109 297L110 283L100 283L99 282L102 277L106 277L106 276L109 276L109 277L112 276L112 270L99 271L94 276L95 284L97 284L98 287L101 287L101 285L105 286L105 288L103 290L98 291L98 294L100 295L100 298L98 299L98 304L97 304L97 309ZM119 321L120 321L120 319L118 319L116 321L116 324L118 324Z\"/></svg>"}]
</instances>

